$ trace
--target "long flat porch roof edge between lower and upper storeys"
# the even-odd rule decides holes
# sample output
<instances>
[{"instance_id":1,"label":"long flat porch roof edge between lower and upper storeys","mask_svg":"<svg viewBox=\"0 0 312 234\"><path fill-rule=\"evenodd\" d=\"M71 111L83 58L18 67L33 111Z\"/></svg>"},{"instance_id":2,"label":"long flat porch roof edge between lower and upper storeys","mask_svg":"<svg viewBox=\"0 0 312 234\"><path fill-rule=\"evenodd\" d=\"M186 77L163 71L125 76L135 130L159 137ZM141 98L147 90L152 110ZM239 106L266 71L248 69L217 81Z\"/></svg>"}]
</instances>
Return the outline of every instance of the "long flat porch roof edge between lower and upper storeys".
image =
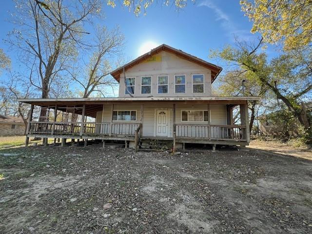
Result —
<instances>
[{"instance_id":1,"label":"long flat porch roof edge between lower and upper storeys","mask_svg":"<svg viewBox=\"0 0 312 234\"><path fill-rule=\"evenodd\" d=\"M200 103L223 103L242 104L246 101L260 100L260 97L139 97L139 98L20 98L18 101L38 106L47 105L79 105L79 104L105 104L124 102L200 102Z\"/></svg>"}]
</instances>

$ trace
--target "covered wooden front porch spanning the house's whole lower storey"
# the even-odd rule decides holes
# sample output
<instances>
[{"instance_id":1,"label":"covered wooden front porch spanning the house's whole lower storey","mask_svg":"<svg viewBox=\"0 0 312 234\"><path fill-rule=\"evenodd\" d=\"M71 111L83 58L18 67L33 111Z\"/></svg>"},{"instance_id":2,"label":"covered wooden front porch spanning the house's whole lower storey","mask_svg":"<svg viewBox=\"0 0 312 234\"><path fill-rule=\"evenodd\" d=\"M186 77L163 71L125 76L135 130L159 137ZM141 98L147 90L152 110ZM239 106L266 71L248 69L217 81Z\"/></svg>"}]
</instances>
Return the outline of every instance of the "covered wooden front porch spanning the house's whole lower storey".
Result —
<instances>
[{"instance_id":1,"label":"covered wooden front porch spanning the house's whole lower storey","mask_svg":"<svg viewBox=\"0 0 312 234\"><path fill-rule=\"evenodd\" d=\"M214 98L214 99L213 99ZM231 99L232 98L232 99ZM31 104L29 137L248 145L247 98L69 98L23 99ZM141 100L142 99L142 100ZM233 112L240 120L234 124ZM34 115L34 110L37 114ZM239 112L237 114L237 111ZM201 114L202 113L202 114ZM222 124L216 124L222 123ZM159 134L160 133L160 134Z\"/></svg>"}]
</instances>

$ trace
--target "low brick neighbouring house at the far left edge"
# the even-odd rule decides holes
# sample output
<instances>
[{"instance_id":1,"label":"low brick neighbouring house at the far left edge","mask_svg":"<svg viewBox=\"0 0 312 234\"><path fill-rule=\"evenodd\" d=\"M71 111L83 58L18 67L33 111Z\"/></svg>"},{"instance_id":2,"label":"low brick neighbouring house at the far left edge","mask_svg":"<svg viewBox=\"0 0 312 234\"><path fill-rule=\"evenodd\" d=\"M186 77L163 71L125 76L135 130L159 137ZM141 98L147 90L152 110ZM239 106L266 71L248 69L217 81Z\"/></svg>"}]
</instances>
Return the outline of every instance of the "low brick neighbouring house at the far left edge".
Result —
<instances>
[{"instance_id":1,"label":"low brick neighbouring house at the far left edge","mask_svg":"<svg viewBox=\"0 0 312 234\"><path fill-rule=\"evenodd\" d=\"M0 136L22 136L24 133L25 124L21 117L0 114Z\"/></svg>"}]
</instances>

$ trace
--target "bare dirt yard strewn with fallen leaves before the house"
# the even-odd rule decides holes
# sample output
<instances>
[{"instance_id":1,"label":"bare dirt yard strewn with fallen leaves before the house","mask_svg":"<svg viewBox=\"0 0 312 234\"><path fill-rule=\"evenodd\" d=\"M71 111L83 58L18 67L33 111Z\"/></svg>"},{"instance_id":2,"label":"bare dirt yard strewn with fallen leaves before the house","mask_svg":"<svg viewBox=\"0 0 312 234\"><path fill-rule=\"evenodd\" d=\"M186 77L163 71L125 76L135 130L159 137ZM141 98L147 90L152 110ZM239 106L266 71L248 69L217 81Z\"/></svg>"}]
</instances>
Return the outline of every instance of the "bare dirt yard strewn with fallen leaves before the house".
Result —
<instances>
[{"instance_id":1,"label":"bare dirt yard strewn with fallen leaves before the house","mask_svg":"<svg viewBox=\"0 0 312 234\"><path fill-rule=\"evenodd\" d=\"M312 233L307 159L100 145L0 154L1 234Z\"/></svg>"}]
</instances>

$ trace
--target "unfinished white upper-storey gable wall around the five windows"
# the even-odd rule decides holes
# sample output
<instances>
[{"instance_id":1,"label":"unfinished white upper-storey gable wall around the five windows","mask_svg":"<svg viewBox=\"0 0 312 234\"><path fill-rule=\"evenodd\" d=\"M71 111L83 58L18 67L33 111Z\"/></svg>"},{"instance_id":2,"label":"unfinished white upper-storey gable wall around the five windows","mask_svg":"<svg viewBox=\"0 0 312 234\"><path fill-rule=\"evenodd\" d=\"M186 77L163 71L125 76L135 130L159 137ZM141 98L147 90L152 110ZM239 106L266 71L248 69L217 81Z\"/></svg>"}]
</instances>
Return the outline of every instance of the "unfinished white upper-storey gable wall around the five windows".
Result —
<instances>
[{"instance_id":1,"label":"unfinished white upper-storey gable wall around the five windows","mask_svg":"<svg viewBox=\"0 0 312 234\"><path fill-rule=\"evenodd\" d=\"M142 62L125 71L126 78L136 78L134 97L207 97L212 96L211 70L176 55L162 51L156 55L160 61ZM204 93L193 94L192 75L204 75ZM186 75L186 93L175 94L175 75ZM141 94L141 77L152 77L151 94ZM157 76L168 76L168 94L158 94ZM119 97L129 97L125 94L123 74L119 80Z\"/></svg>"}]
</instances>

